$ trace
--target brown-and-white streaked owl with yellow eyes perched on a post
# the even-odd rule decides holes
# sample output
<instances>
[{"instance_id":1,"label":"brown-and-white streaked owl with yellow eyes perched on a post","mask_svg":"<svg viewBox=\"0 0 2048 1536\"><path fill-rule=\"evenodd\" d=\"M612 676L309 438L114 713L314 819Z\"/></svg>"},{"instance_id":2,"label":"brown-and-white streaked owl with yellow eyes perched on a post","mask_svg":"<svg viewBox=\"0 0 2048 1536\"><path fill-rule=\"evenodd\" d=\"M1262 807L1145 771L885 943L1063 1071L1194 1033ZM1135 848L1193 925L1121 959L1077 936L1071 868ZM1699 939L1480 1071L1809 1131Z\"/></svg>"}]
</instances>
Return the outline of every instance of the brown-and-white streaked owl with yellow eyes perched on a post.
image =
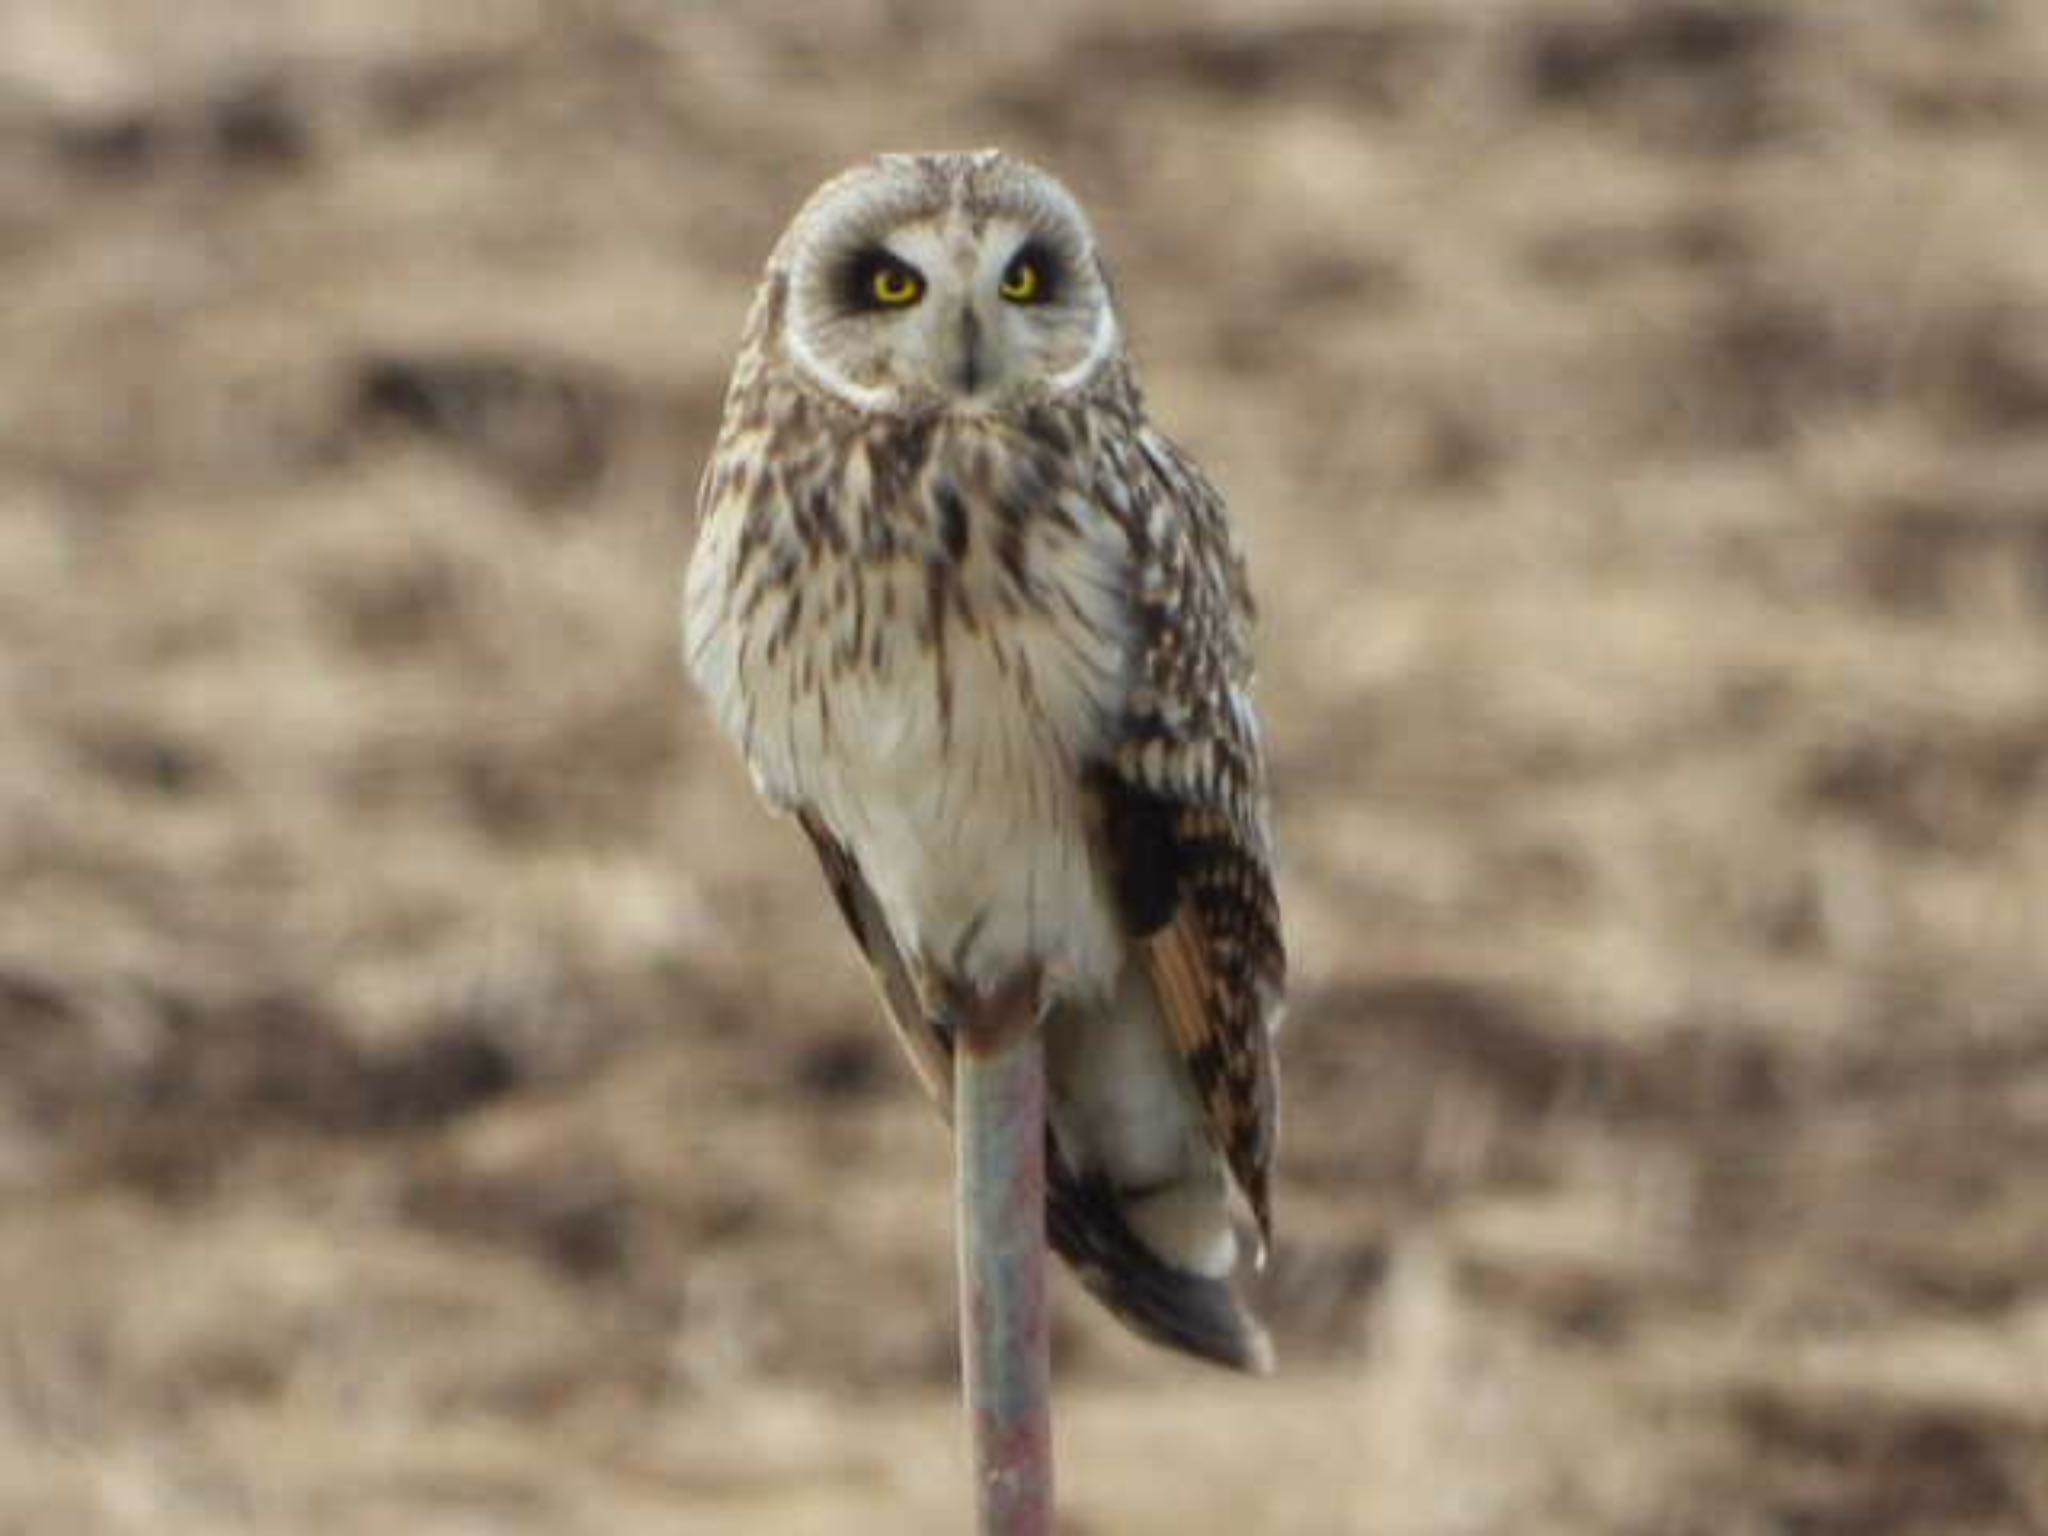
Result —
<instances>
[{"instance_id":1,"label":"brown-and-white streaked owl with yellow eyes perched on a post","mask_svg":"<svg viewBox=\"0 0 2048 1536\"><path fill-rule=\"evenodd\" d=\"M881 156L768 258L698 494L684 653L813 844L911 1063L1034 971L1047 1233L1243 1370L1284 952L1221 496L1147 420L1096 236L1001 152Z\"/></svg>"}]
</instances>

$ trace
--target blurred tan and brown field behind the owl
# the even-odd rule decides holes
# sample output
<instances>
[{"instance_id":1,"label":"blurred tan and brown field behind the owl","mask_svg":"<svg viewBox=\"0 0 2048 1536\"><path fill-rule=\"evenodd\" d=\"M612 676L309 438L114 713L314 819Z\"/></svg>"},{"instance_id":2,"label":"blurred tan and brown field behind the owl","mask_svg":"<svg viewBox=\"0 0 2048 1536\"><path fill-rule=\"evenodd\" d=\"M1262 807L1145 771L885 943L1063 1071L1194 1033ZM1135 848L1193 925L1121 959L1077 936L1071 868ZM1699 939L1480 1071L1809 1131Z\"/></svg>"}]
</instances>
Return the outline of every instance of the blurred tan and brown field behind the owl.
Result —
<instances>
[{"instance_id":1,"label":"blurred tan and brown field behind the owl","mask_svg":"<svg viewBox=\"0 0 2048 1536\"><path fill-rule=\"evenodd\" d=\"M0 1532L956 1530L948 1159L684 688L1001 143L1264 594L1282 1350L1065 1532L2048 1530L2048 8L0 4Z\"/></svg>"}]
</instances>

